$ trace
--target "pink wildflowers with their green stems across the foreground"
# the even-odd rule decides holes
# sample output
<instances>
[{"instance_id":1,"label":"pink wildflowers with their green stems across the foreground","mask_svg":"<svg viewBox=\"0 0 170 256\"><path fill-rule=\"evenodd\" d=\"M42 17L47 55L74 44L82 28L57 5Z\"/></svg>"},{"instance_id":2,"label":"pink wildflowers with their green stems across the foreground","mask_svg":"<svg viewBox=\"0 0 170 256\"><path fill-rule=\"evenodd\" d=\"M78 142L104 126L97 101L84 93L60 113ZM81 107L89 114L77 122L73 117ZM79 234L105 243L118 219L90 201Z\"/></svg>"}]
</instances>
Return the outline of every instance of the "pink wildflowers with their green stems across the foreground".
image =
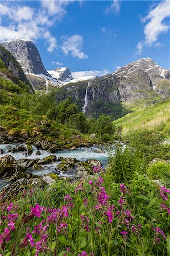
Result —
<instances>
[{"instance_id":1,"label":"pink wildflowers with their green stems across the foreground","mask_svg":"<svg viewBox=\"0 0 170 256\"><path fill-rule=\"evenodd\" d=\"M94 167L94 173L101 172L101 168ZM57 193L57 189L55 190ZM5 255L112 255L113 251L127 247L131 250L130 242L134 241L138 247L147 242L148 228L152 230L150 242L160 246L166 239L166 232L158 227L159 219L154 224L146 225L144 217L134 214L130 205L130 187L124 183L117 187L117 196L110 194L103 177L93 175L88 182L81 181L74 187L74 191L64 194L62 201L53 207L30 205L27 212L22 212L20 205L3 203L0 206L0 254ZM21 199L34 195L36 191L24 192ZM160 187L159 200L161 205L157 209L167 210L170 191ZM136 217L137 216L137 217ZM147 229L146 229L147 227ZM147 246L146 246L147 247ZM28 248L28 249L27 249ZM142 247L143 248L143 247ZM143 250L143 249L142 249Z\"/></svg>"}]
</instances>

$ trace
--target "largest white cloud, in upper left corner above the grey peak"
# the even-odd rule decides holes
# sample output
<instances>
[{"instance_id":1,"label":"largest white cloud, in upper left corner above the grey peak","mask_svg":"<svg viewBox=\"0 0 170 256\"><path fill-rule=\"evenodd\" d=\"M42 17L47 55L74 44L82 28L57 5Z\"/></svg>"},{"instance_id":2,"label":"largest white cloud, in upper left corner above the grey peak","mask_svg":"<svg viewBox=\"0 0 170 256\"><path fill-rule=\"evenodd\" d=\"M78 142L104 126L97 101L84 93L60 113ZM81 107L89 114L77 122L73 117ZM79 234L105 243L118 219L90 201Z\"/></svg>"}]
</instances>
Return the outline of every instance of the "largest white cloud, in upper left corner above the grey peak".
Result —
<instances>
[{"instance_id":1,"label":"largest white cloud, in upper left corner above the grey peak","mask_svg":"<svg viewBox=\"0 0 170 256\"><path fill-rule=\"evenodd\" d=\"M46 1L49 5L51 2L54 1ZM0 19L3 22L4 17L9 18L9 26L2 26L1 22L0 40L26 39L34 41L45 39L48 44L47 50L49 52L54 51L57 48L56 38L49 32L49 27L56 19L53 15L60 16L60 11L64 15L64 7L68 4L67 1L59 0L59 2L60 9L55 13L50 13L45 7L31 9L28 6L20 6L15 1L0 3ZM57 6L57 2L54 3Z\"/></svg>"}]
</instances>

